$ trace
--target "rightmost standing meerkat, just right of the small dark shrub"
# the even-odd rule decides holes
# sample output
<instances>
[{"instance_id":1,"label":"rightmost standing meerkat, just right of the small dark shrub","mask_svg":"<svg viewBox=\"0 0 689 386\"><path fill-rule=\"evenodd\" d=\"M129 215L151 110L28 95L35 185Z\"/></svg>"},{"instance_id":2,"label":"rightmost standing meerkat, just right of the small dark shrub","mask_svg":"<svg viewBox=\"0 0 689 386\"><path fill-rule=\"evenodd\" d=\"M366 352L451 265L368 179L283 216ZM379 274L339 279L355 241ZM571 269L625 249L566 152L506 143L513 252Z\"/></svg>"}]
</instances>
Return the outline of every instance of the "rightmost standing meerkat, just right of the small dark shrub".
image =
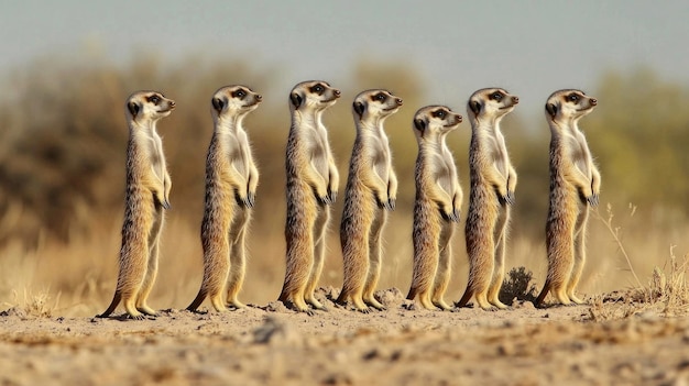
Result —
<instances>
[{"instance_id":1,"label":"rightmost standing meerkat, just right of the small dark shrub","mask_svg":"<svg viewBox=\"0 0 689 386\"><path fill-rule=\"evenodd\" d=\"M593 163L579 119L598 101L580 90L559 90L546 102L550 126L550 205L546 222L548 274L536 299L540 305L548 291L562 305L581 305L575 289L586 262L589 206L599 202L601 175Z\"/></svg>"}]
</instances>

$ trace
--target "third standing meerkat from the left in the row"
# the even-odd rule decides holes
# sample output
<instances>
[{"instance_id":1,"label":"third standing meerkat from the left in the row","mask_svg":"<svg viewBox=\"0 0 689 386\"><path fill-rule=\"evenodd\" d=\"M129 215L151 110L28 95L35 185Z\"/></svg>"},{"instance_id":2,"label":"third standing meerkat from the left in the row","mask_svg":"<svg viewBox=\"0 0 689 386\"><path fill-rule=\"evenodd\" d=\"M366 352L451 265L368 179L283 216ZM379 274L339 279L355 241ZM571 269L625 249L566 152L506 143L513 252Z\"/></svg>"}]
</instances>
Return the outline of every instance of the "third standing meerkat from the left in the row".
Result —
<instances>
[{"instance_id":1,"label":"third standing meerkat from the left in the row","mask_svg":"<svg viewBox=\"0 0 689 386\"><path fill-rule=\"evenodd\" d=\"M325 81L304 81L289 92L292 125L287 139L287 243L285 282L278 300L297 311L326 310L314 296L322 271L330 206L339 174L322 123L324 111L340 91ZM308 304L308 305L307 305Z\"/></svg>"}]
</instances>

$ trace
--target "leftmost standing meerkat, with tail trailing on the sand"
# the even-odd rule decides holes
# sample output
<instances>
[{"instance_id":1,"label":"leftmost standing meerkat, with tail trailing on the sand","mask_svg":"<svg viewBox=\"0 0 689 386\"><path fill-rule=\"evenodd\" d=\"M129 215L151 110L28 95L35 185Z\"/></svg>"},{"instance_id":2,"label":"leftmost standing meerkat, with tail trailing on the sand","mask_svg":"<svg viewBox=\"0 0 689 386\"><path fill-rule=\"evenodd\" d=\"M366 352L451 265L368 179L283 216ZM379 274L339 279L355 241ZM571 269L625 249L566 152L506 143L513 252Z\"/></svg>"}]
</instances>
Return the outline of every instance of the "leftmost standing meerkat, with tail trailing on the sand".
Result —
<instances>
[{"instance_id":1,"label":"leftmost standing meerkat, with tail trailing on the sand","mask_svg":"<svg viewBox=\"0 0 689 386\"><path fill-rule=\"evenodd\" d=\"M139 91L125 106L129 144L120 271L112 302L99 317L110 316L122 301L130 318L142 319L157 315L146 299L157 275L163 210L171 208L172 181L156 123L169 115L175 101L160 92Z\"/></svg>"}]
</instances>

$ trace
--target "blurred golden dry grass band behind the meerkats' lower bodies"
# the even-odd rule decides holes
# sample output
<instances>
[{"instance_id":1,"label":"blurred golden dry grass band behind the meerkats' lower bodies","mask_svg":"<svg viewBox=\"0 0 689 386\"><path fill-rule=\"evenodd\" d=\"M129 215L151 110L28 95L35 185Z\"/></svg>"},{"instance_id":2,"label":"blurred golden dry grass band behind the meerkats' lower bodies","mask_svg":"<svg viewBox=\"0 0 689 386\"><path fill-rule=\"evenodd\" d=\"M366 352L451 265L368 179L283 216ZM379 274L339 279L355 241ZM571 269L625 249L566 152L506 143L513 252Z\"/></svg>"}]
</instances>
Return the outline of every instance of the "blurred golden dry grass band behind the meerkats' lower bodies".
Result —
<instances>
[{"instance_id":1,"label":"blurred golden dry grass band behind the meerkats' lower bodies","mask_svg":"<svg viewBox=\"0 0 689 386\"><path fill-rule=\"evenodd\" d=\"M280 214L258 217L251 224L248 275L240 294L250 304L265 305L273 301L284 277L284 208L280 203L274 205L273 212ZM101 312L111 299L117 280L120 222L121 213L103 217L100 224L91 229L90 236L76 239L69 245L51 241L35 250L22 250L17 244L6 245L0 250L3 256L0 304L6 308L26 308L28 313L35 316L94 316ZM327 264L321 277L324 286L341 285L338 223L339 214L336 211L328 240ZM402 210L392 213L385 230L380 288L396 287L403 293L408 288L412 276L411 229L411 213ZM457 300L467 284L467 257L461 229L462 224L453 242L455 269L447 293L448 301ZM617 229L615 236L609 233L610 229ZM689 225L678 229L676 234L686 234ZM667 234L648 231L641 221L612 228L592 221L590 235L590 258L580 293L591 298L594 306L592 319L625 318L643 312L647 307L661 308L668 316L686 313L689 305L686 282L689 263L687 256L675 257L674 251L679 250L679 246L671 250L669 258L663 257L660 246L672 243ZM680 238L674 240L685 242ZM626 254L620 258L622 246ZM533 296L534 289L539 288L545 278L545 250L540 241L518 236L511 240L507 251L508 269L518 267L510 272L506 280L505 291L511 294L507 301L514 297L528 300L528 296ZM161 272L151 304L161 309L186 307L198 290L200 277L198 225L172 211L163 233ZM635 277L647 285L636 285ZM18 296L18 288L24 288L23 296ZM615 290L621 293L613 293ZM613 295L602 295L609 293ZM602 302L615 306L602 311L602 307L597 307Z\"/></svg>"}]
</instances>

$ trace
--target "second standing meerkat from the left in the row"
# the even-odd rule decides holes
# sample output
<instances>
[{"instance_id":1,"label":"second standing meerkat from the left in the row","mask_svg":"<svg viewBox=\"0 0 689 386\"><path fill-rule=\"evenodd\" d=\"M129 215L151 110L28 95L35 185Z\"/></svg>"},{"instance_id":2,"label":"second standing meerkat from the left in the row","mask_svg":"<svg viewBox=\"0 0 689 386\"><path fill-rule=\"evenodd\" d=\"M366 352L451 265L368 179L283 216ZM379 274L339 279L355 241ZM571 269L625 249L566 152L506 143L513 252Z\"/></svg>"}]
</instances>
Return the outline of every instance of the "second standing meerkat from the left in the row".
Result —
<instances>
[{"instance_id":1,"label":"second standing meerkat from the left in the row","mask_svg":"<svg viewBox=\"0 0 689 386\"><path fill-rule=\"evenodd\" d=\"M244 282L244 239L255 202L259 169L242 122L259 103L261 96L244 86L222 87L212 96L214 133L206 158L201 221L204 279L187 310L195 311L207 296L216 311L225 311L226 306L244 307L237 295Z\"/></svg>"}]
</instances>

